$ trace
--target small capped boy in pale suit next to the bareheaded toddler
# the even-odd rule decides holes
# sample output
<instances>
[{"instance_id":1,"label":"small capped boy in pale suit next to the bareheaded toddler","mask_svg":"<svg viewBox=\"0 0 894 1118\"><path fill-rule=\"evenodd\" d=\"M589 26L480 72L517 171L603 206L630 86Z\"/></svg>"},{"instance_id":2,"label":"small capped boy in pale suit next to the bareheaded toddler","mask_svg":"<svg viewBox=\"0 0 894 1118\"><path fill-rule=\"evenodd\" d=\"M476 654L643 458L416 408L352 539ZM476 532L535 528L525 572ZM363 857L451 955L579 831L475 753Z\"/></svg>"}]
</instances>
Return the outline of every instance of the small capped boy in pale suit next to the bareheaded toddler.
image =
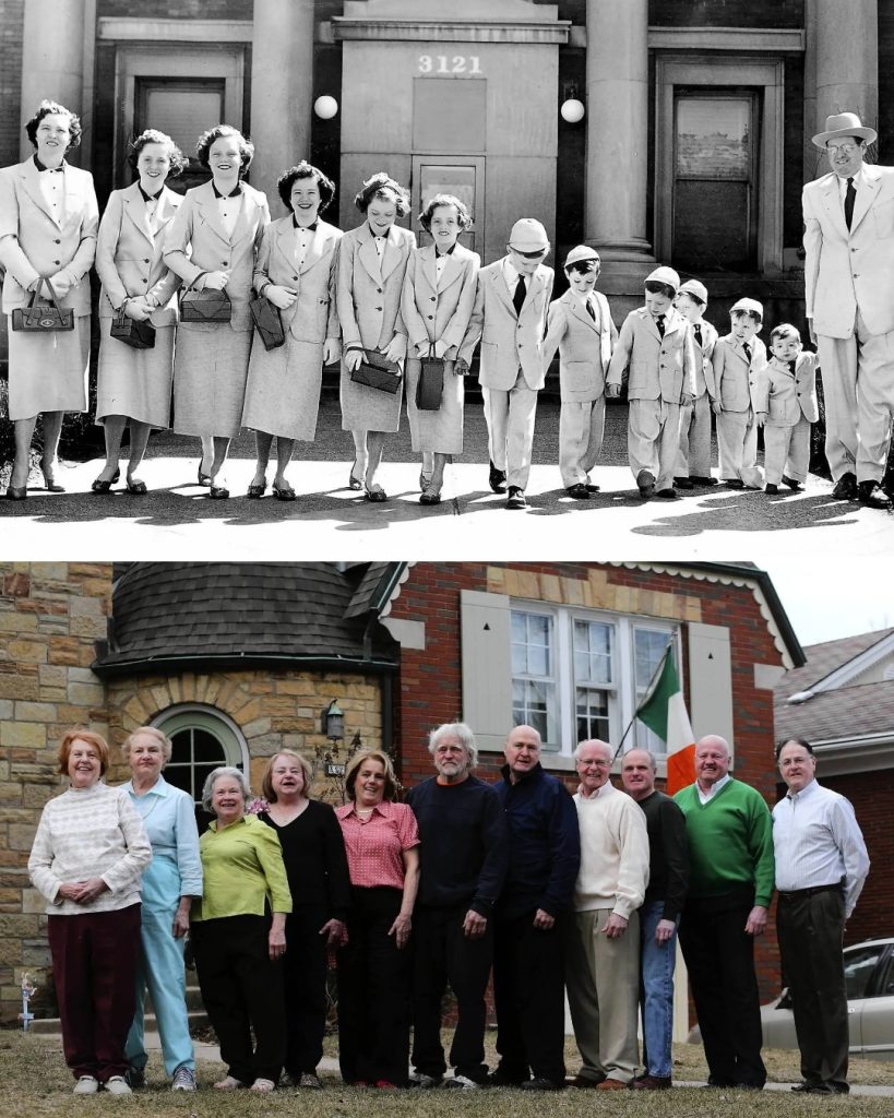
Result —
<instances>
[{"instance_id":1,"label":"small capped boy in pale suit next to the bareheaded toddler","mask_svg":"<svg viewBox=\"0 0 894 1118\"><path fill-rule=\"evenodd\" d=\"M714 367L720 476L727 489L760 489L755 399L767 364L767 347L758 338L763 306L755 299L740 299L730 309L730 333L719 338Z\"/></svg>"}]
</instances>

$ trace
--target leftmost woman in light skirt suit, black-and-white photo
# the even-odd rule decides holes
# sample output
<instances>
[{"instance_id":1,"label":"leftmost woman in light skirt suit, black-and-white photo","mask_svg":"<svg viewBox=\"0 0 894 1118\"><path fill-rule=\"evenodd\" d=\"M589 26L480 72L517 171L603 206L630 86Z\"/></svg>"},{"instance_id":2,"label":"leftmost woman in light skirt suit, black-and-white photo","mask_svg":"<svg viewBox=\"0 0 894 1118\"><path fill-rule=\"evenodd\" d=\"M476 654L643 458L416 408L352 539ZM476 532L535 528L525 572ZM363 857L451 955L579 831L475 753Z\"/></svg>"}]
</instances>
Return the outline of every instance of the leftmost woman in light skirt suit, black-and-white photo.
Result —
<instances>
[{"instance_id":1,"label":"leftmost woman in light skirt suit, black-and-white photo","mask_svg":"<svg viewBox=\"0 0 894 1118\"><path fill-rule=\"evenodd\" d=\"M93 176L70 167L66 152L80 143L80 121L54 101L42 101L25 126L35 154L0 173L0 265L3 311L9 321L9 418L16 461L7 498L28 495L31 439L44 414L40 468L51 493L63 416L87 407L91 348L91 285L99 208ZM49 297L49 280L63 310L74 311L74 330L25 333L11 315L32 292Z\"/></svg>"}]
</instances>

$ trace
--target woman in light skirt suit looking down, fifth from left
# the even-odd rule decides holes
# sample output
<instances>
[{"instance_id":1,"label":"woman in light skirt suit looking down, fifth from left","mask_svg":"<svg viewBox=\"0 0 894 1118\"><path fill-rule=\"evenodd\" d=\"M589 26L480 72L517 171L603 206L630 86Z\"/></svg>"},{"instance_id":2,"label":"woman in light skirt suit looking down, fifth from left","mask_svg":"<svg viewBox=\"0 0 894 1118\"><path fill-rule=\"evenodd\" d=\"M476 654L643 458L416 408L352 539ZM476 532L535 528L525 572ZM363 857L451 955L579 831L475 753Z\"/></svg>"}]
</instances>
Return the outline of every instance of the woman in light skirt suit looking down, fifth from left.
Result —
<instances>
[{"instance_id":1,"label":"woman in light skirt suit looking down, fifth from left","mask_svg":"<svg viewBox=\"0 0 894 1118\"><path fill-rule=\"evenodd\" d=\"M363 183L354 205L367 220L346 233L339 246L337 309L342 328L342 429L354 437L349 484L363 489L368 501L387 501L375 481L384 436L400 426L401 391L387 392L351 380L363 350L378 350L401 367L407 356L407 329L400 295L416 237L394 225L410 210L410 196L384 171Z\"/></svg>"}]
</instances>

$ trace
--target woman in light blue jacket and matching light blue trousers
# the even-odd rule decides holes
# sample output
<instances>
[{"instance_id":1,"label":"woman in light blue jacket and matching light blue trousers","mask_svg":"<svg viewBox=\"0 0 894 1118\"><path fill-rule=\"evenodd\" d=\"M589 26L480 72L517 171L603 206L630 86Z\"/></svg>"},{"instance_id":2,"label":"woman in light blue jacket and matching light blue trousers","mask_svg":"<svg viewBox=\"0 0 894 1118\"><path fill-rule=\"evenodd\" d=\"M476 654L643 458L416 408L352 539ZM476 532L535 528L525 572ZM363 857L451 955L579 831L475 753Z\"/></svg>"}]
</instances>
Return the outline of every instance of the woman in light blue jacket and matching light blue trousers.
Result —
<instances>
[{"instance_id":1,"label":"woman in light blue jacket and matching light blue trousers","mask_svg":"<svg viewBox=\"0 0 894 1118\"><path fill-rule=\"evenodd\" d=\"M143 873L141 953L136 965L136 1012L127 1033L127 1080L142 1087L146 1050L143 1042L145 991L152 997L161 1035L164 1070L175 1091L196 1090L196 1059L189 1035L183 937L193 897L202 894L199 832L192 797L161 775L171 759L171 742L161 730L143 726L122 747L133 774L130 793L152 844Z\"/></svg>"}]
</instances>

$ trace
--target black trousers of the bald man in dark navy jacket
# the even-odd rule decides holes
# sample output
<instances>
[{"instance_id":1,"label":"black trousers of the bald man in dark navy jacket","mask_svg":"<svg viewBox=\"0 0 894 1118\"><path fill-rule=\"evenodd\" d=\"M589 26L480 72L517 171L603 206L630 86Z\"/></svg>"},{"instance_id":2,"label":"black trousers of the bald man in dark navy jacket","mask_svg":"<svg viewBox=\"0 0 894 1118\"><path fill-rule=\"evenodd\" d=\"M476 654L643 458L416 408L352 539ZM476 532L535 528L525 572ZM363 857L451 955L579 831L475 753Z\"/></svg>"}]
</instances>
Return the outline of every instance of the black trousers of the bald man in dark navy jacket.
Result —
<instances>
[{"instance_id":1,"label":"black trousers of the bald man in dark navy jacket","mask_svg":"<svg viewBox=\"0 0 894 1118\"><path fill-rule=\"evenodd\" d=\"M496 1050L502 1079L565 1080L564 920L549 931L534 927L534 913L494 923Z\"/></svg>"}]
</instances>

